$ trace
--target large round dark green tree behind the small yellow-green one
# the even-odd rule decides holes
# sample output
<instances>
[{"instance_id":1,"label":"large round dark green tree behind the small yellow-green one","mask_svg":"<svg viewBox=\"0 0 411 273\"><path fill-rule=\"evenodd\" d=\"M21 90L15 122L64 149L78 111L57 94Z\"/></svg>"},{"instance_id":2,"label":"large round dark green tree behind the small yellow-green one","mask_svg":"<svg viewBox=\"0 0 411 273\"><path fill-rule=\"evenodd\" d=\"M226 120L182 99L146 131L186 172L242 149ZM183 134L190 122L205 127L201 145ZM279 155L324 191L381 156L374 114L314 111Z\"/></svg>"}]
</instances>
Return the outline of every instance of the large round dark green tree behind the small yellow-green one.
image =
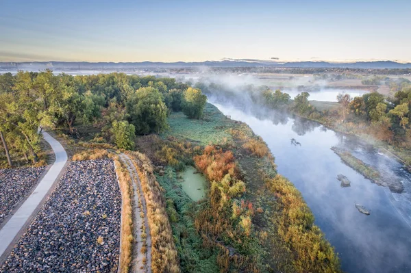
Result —
<instances>
[{"instance_id":1,"label":"large round dark green tree behind the small yellow-green one","mask_svg":"<svg viewBox=\"0 0 411 273\"><path fill-rule=\"evenodd\" d=\"M128 121L136 127L136 133L160 133L169 127L168 109L157 89L140 88L125 103Z\"/></svg>"}]
</instances>

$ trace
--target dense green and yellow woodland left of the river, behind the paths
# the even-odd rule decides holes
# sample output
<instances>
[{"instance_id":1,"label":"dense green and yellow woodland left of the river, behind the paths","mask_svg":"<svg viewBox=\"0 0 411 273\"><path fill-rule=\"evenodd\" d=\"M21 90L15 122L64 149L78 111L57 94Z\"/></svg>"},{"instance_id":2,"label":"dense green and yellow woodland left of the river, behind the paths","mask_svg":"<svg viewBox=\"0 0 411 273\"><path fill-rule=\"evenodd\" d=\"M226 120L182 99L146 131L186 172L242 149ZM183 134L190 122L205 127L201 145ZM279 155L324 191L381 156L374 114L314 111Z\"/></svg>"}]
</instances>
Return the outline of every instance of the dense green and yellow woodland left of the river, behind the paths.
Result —
<instances>
[{"instance_id":1,"label":"dense green and yellow woodland left of the river, behind the paths","mask_svg":"<svg viewBox=\"0 0 411 273\"><path fill-rule=\"evenodd\" d=\"M93 125L118 148L131 149L135 135L169 128L167 116L182 111L201 118L207 97L172 78L124 73L53 75L52 70L0 75L0 137L5 157L38 161L38 129L64 129L73 137Z\"/></svg>"}]
</instances>

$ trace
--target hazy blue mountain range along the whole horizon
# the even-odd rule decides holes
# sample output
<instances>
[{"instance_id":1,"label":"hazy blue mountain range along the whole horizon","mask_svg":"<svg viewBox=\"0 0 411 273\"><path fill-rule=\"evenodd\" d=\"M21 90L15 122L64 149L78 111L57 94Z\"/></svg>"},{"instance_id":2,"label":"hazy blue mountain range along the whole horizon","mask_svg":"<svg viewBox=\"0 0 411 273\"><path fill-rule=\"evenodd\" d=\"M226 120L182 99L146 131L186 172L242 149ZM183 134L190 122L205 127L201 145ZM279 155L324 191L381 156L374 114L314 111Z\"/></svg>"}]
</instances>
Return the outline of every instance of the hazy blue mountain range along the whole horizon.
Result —
<instances>
[{"instance_id":1,"label":"hazy blue mountain range along the whole horizon","mask_svg":"<svg viewBox=\"0 0 411 273\"><path fill-rule=\"evenodd\" d=\"M411 63L393 61L375 62L245 62L235 60L206 62L0 62L0 70L89 70L89 69L133 69L133 68L189 68L189 67L278 67L278 68L411 68Z\"/></svg>"}]
</instances>

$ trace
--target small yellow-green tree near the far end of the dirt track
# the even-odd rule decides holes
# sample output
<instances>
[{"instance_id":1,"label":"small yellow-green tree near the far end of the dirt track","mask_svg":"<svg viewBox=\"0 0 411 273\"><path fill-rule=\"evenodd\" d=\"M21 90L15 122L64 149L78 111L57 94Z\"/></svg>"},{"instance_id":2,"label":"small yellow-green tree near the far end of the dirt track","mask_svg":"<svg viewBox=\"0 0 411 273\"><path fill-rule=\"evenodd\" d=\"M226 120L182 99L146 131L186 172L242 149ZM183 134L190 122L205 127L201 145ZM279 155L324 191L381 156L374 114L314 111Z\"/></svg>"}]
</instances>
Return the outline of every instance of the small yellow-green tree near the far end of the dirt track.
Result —
<instances>
[{"instance_id":1,"label":"small yellow-green tree near the far end of the dirt track","mask_svg":"<svg viewBox=\"0 0 411 273\"><path fill-rule=\"evenodd\" d=\"M110 131L117 147L126 150L133 148L134 138L136 137L136 127L134 127L134 125L129 124L126 120L119 122L114 120Z\"/></svg>"}]
</instances>

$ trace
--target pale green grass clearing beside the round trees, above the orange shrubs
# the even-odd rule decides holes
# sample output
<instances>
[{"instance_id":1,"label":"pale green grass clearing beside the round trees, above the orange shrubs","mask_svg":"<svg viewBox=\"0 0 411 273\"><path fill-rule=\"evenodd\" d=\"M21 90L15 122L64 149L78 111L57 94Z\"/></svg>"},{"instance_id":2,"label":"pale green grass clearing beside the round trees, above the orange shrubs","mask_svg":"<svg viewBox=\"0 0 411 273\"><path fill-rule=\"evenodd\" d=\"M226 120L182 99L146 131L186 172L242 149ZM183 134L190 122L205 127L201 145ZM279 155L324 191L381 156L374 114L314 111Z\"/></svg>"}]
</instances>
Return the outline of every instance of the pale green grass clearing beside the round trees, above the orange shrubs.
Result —
<instances>
[{"instance_id":1,"label":"pale green grass clearing beside the round trees, above the orange shrubs","mask_svg":"<svg viewBox=\"0 0 411 273\"><path fill-rule=\"evenodd\" d=\"M173 112L169 116L169 131L160 136L173 135L176 138L198 142L201 145L220 144L225 139L232 140L232 136L227 133L232 122L214 105L207 103L204 108L204 117L201 120L190 120L182 112Z\"/></svg>"}]
</instances>

